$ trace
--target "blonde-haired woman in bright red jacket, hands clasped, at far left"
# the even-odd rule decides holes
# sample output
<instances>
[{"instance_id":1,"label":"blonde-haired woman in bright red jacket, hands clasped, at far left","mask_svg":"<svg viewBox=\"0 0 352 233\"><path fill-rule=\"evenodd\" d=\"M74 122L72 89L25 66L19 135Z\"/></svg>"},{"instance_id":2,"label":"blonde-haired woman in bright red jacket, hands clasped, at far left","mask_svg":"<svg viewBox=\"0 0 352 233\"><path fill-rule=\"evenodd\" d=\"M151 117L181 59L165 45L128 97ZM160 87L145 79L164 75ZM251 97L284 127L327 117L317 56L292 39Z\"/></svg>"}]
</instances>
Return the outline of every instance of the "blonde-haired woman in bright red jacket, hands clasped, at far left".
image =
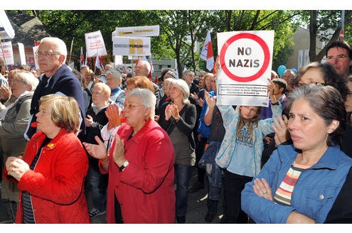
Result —
<instances>
[{"instance_id":1,"label":"blonde-haired woman in bright red jacket, hands clasped, at far left","mask_svg":"<svg viewBox=\"0 0 352 233\"><path fill-rule=\"evenodd\" d=\"M80 110L73 97L41 97L37 129L24 156L6 161L4 177L20 190L16 223L90 223L84 195L88 161L75 133Z\"/></svg>"}]
</instances>

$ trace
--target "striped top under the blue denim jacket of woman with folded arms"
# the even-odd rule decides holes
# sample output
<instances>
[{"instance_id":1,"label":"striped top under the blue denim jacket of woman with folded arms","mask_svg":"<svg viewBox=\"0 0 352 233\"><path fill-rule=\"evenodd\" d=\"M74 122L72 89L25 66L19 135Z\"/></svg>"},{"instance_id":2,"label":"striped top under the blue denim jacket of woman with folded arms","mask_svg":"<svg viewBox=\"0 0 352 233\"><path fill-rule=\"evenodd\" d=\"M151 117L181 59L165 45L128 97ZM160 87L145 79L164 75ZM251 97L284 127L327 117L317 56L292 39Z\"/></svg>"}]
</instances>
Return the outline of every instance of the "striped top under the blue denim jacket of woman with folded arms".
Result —
<instances>
[{"instance_id":1,"label":"striped top under the blue denim jacket of woman with folded arms","mask_svg":"<svg viewBox=\"0 0 352 233\"><path fill-rule=\"evenodd\" d=\"M275 203L281 205L291 205L294 185L296 185L302 172L309 167L310 166L304 166L297 163L292 164L274 195Z\"/></svg>"}]
</instances>

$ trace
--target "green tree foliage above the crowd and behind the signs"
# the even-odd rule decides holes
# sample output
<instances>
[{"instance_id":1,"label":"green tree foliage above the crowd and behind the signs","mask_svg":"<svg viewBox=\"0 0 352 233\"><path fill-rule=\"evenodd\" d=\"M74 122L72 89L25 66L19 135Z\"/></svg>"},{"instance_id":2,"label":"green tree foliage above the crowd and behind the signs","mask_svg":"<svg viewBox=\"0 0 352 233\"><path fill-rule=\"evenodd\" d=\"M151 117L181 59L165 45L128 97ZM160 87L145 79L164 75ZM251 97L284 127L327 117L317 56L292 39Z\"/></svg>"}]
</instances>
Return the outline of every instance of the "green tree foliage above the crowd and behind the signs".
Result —
<instances>
[{"instance_id":1,"label":"green tree foliage above the crowd and behind the signs","mask_svg":"<svg viewBox=\"0 0 352 233\"><path fill-rule=\"evenodd\" d=\"M311 32L339 31L341 11L281 10L136 10L136 11L18 11L35 14L52 36L62 38L70 46L73 57L79 58L85 48L85 33L100 30L107 53L112 56L112 31L116 27L159 25L160 36L151 38L151 52L156 59L175 59L178 72L183 67L206 70L199 59L208 30L211 32L214 55L218 54L217 33L225 31L274 31L273 69L287 63L292 55L297 26L311 24ZM316 20L312 21L312 13ZM345 40L351 42L351 11L345 13ZM337 35L337 36L336 36ZM338 38L338 33L321 33L321 40ZM198 43L198 45L197 45ZM313 44L311 42L311 44ZM197 46L196 46L197 45ZM319 57L320 58L320 57ZM318 59L318 58L316 58ZM111 59L112 60L112 59Z\"/></svg>"}]
</instances>

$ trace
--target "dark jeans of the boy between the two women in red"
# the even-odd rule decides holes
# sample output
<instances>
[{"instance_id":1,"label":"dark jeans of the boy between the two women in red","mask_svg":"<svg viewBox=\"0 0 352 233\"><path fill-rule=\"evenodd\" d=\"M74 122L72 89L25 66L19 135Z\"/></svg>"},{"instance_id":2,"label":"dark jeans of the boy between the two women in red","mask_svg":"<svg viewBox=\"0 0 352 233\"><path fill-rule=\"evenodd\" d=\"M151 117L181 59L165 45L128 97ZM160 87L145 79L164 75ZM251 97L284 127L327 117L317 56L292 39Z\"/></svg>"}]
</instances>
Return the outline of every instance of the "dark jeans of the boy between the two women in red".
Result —
<instances>
[{"instance_id":1,"label":"dark jeans of the boy between the two women in red","mask_svg":"<svg viewBox=\"0 0 352 233\"><path fill-rule=\"evenodd\" d=\"M91 193L92 207L103 212L107 208L107 180L108 175L89 167L86 178L87 192Z\"/></svg>"}]
</instances>

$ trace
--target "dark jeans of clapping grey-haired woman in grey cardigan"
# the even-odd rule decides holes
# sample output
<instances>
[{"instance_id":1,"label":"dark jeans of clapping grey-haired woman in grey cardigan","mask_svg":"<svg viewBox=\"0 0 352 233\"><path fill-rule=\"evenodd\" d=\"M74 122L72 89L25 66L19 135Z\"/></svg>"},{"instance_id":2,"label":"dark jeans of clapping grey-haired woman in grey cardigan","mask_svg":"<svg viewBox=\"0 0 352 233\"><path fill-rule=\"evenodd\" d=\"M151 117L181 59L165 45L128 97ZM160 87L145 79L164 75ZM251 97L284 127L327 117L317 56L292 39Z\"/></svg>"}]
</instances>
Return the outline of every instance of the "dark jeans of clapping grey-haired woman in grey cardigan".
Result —
<instances>
[{"instance_id":1,"label":"dark jeans of clapping grey-haired woman in grey cardigan","mask_svg":"<svg viewBox=\"0 0 352 233\"><path fill-rule=\"evenodd\" d=\"M176 180L176 216L186 216L188 185L191 180L193 166L175 164Z\"/></svg>"}]
</instances>

